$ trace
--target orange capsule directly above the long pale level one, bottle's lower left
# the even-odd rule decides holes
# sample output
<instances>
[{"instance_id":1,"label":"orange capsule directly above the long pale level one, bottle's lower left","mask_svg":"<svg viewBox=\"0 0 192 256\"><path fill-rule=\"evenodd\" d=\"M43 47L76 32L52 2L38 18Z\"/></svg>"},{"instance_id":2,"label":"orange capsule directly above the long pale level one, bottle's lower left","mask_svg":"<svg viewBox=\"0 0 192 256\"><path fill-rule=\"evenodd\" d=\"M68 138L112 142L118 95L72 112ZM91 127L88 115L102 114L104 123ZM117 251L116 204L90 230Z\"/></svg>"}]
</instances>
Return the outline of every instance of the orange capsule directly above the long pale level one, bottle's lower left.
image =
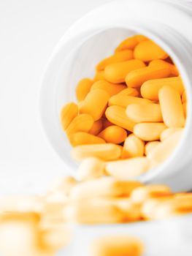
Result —
<instances>
[{"instance_id":1,"label":"orange capsule directly above the long pale level one, bottle's lower left","mask_svg":"<svg viewBox=\"0 0 192 256\"><path fill-rule=\"evenodd\" d=\"M88 132L74 132L72 135L69 135L69 141L72 146L105 143L105 140L102 138L91 135Z\"/></svg>"}]
</instances>

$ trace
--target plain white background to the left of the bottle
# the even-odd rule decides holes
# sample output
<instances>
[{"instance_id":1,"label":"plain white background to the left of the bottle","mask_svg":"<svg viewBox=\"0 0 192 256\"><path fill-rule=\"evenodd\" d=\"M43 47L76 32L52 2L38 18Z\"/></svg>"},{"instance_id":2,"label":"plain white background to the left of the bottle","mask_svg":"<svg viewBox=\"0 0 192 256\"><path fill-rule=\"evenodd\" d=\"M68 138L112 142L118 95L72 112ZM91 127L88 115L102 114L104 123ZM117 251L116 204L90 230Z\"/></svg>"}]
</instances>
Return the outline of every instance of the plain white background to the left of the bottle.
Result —
<instances>
[{"instance_id":1,"label":"plain white background to the left of the bottle","mask_svg":"<svg viewBox=\"0 0 192 256\"><path fill-rule=\"evenodd\" d=\"M67 167L39 124L40 78L75 20L110 0L0 0L0 192L44 191Z\"/></svg>"}]
</instances>

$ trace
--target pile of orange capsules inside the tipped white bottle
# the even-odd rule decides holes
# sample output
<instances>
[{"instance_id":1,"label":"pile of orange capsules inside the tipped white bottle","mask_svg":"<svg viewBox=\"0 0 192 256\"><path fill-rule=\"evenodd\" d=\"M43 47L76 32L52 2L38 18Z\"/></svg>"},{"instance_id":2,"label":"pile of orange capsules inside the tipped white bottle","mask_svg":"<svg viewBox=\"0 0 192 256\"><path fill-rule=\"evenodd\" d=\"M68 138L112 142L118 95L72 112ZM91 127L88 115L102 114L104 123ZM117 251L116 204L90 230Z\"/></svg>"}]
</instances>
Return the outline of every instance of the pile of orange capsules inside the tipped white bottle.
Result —
<instances>
[{"instance_id":1,"label":"pile of orange capsules inside the tipped white bottle","mask_svg":"<svg viewBox=\"0 0 192 256\"><path fill-rule=\"evenodd\" d=\"M61 125L72 158L82 161L82 178L88 171L121 179L141 175L164 162L183 135L182 79L168 54L142 35L121 42L96 66L93 80L80 80L76 96L77 103L62 108Z\"/></svg>"}]
</instances>

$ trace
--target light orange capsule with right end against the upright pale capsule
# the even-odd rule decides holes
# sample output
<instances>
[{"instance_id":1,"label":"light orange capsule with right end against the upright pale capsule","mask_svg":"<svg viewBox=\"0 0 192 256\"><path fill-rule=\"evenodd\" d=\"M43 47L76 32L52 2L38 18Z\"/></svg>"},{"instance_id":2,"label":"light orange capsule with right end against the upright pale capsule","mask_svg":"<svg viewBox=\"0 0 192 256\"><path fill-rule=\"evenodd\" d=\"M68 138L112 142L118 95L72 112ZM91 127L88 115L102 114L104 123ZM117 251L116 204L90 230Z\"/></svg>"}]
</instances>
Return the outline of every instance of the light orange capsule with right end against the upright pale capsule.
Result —
<instances>
[{"instance_id":1,"label":"light orange capsule with right end against the upright pale capsule","mask_svg":"<svg viewBox=\"0 0 192 256\"><path fill-rule=\"evenodd\" d=\"M130 104L126 108L126 115L136 123L163 121L159 104Z\"/></svg>"}]
</instances>

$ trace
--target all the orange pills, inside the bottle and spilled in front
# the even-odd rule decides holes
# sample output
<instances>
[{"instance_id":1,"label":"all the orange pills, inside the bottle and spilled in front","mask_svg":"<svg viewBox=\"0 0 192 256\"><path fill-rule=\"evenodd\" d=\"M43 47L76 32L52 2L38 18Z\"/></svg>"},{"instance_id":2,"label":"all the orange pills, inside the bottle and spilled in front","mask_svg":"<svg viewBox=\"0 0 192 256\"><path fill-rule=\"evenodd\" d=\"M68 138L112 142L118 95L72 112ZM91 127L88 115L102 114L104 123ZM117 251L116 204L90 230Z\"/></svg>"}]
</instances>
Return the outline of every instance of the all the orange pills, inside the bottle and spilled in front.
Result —
<instances>
[{"instance_id":1,"label":"all the orange pills, inside the bottle and spilled in front","mask_svg":"<svg viewBox=\"0 0 192 256\"><path fill-rule=\"evenodd\" d=\"M185 89L172 59L142 35L120 43L82 79L78 103L61 110L78 180L66 176L43 196L0 198L0 255L54 256L69 244L69 223L112 224L192 213L192 193L128 180L161 164L186 118ZM154 170L155 171L155 170ZM91 256L139 256L142 241L97 238Z\"/></svg>"}]
</instances>

